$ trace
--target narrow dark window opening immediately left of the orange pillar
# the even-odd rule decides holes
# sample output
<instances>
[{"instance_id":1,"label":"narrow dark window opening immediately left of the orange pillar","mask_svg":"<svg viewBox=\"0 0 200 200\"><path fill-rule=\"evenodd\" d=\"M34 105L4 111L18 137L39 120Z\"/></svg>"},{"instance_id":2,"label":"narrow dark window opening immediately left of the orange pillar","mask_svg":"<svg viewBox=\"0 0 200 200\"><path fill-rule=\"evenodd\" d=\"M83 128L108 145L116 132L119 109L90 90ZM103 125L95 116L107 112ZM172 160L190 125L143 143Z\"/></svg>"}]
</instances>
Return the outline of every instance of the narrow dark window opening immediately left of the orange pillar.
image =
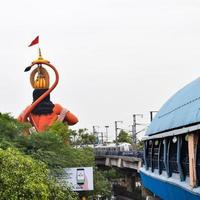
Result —
<instances>
[{"instance_id":1,"label":"narrow dark window opening immediately left of the orange pillar","mask_svg":"<svg viewBox=\"0 0 200 200\"><path fill-rule=\"evenodd\" d=\"M181 166L184 177L189 176L188 135L182 136Z\"/></svg>"}]
</instances>

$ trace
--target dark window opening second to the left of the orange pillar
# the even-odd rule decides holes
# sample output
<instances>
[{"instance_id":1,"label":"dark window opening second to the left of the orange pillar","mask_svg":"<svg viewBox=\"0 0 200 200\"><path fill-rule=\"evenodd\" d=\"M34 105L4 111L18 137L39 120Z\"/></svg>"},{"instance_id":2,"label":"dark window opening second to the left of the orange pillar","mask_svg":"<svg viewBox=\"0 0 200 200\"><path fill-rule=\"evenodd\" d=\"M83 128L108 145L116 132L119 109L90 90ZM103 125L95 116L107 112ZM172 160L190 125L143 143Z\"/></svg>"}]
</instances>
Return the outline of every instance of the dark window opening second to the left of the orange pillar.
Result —
<instances>
[{"instance_id":1,"label":"dark window opening second to the left of the orange pillar","mask_svg":"<svg viewBox=\"0 0 200 200\"><path fill-rule=\"evenodd\" d=\"M177 137L170 139L170 149L169 149L169 173L178 173L177 164Z\"/></svg>"}]
</instances>

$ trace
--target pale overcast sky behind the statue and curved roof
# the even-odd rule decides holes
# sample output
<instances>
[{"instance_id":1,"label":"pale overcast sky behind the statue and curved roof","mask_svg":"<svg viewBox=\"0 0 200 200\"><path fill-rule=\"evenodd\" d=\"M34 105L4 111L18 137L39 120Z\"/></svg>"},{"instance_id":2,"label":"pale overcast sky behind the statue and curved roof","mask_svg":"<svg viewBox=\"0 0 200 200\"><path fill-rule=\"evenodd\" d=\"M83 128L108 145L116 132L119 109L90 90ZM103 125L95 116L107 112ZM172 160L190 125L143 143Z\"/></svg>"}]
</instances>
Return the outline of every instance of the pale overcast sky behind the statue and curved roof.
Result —
<instances>
[{"instance_id":1,"label":"pale overcast sky behind the statue and curved roof","mask_svg":"<svg viewBox=\"0 0 200 200\"><path fill-rule=\"evenodd\" d=\"M130 129L133 113L158 110L200 74L198 0L19 0L0 6L0 111L17 116L32 102L40 35L60 82L52 101L79 117L74 128ZM138 130L143 127L138 127Z\"/></svg>"}]
</instances>

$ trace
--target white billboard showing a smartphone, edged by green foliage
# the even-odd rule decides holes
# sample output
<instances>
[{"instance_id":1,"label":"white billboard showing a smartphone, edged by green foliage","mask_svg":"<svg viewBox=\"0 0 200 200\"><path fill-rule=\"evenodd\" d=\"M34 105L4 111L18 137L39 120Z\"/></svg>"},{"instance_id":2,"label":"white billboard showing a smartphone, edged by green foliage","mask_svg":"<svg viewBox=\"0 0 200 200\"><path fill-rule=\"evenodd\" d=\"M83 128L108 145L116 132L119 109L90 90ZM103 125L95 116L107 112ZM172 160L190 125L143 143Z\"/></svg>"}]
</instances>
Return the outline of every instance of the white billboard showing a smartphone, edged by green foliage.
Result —
<instances>
[{"instance_id":1,"label":"white billboard showing a smartphone, edged by green foliage","mask_svg":"<svg viewBox=\"0 0 200 200\"><path fill-rule=\"evenodd\" d=\"M93 167L65 168L62 179L73 191L94 190Z\"/></svg>"}]
</instances>

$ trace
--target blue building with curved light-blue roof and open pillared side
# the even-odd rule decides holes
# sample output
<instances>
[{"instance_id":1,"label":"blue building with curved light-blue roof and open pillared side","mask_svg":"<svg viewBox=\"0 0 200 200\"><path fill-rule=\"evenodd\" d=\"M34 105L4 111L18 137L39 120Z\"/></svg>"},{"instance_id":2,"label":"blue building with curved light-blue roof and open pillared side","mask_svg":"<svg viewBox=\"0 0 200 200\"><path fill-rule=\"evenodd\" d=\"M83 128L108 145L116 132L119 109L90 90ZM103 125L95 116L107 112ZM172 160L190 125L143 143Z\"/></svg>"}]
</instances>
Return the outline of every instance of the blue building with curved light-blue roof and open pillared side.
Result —
<instances>
[{"instance_id":1,"label":"blue building with curved light-blue roof and open pillared side","mask_svg":"<svg viewBox=\"0 0 200 200\"><path fill-rule=\"evenodd\" d=\"M145 136L142 184L166 200L200 200L200 78L172 96Z\"/></svg>"}]
</instances>

